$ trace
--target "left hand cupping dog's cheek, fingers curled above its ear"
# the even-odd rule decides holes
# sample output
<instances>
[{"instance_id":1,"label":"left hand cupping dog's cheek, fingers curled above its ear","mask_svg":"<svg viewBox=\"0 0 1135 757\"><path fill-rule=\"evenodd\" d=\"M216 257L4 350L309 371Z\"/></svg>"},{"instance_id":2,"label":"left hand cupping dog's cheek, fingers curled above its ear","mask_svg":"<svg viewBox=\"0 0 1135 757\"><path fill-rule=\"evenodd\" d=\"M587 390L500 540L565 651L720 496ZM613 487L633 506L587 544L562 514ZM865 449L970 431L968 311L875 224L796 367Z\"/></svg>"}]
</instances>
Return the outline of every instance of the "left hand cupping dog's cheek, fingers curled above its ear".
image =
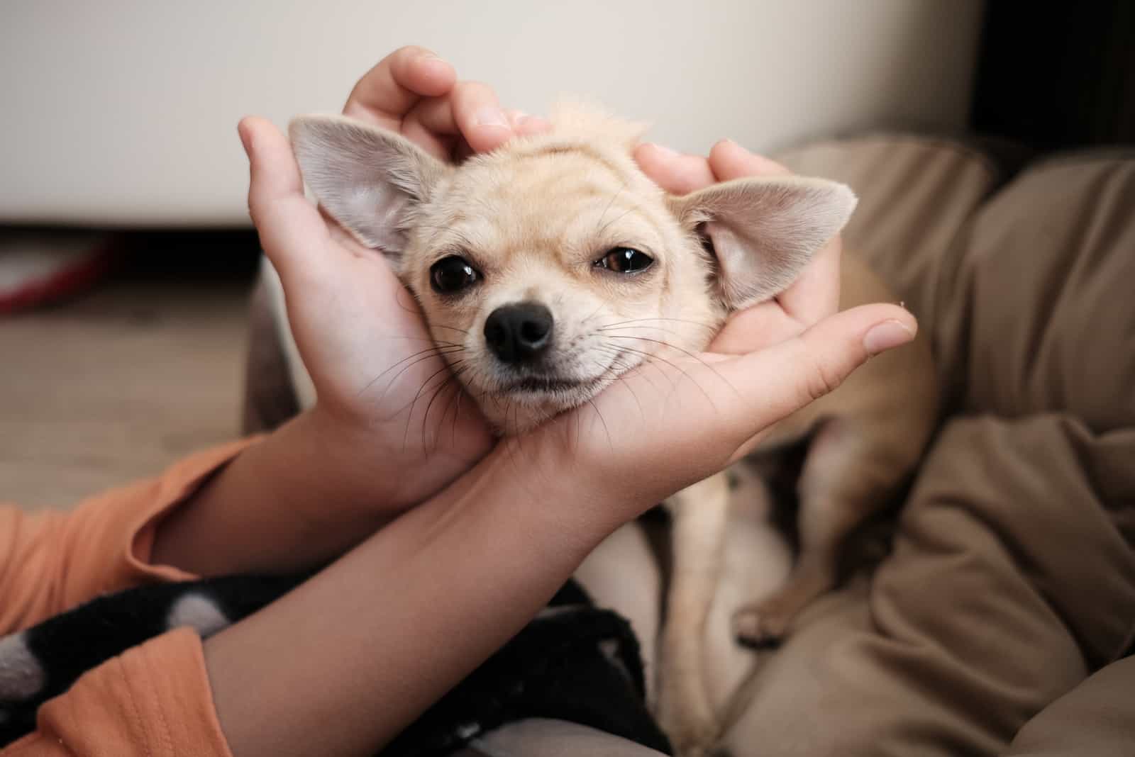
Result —
<instances>
[{"instance_id":1,"label":"left hand cupping dog's cheek, fingers curled above its ear","mask_svg":"<svg viewBox=\"0 0 1135 757\"><path fill-rule=\"evenodd\" d=\"M412 46L368 71L344 112L446 160L548 128L543 119L502 111L488 86L457 82L452 66ZM488 451L488 428L448 380L446 346L435 347L382 256L304 198L284 136L254 118L243 120L239 133L251 162L249 207L316 386L320 422L305 427L321 429L340 459L359 459L376 505L419 502Z\"/></svg>"}]
</instances>

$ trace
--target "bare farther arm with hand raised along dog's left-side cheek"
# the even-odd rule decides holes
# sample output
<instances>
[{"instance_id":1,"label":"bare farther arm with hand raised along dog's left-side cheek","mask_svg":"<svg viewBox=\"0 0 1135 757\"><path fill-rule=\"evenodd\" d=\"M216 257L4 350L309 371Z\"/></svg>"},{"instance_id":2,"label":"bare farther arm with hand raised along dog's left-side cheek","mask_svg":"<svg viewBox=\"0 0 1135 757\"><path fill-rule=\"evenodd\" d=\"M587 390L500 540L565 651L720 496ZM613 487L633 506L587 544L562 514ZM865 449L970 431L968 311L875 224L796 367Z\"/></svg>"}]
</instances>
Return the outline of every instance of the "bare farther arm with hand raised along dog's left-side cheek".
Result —
<instances>
[{"instance_id":1,"label":"bare farther arm with hand raised along dog's left-side cheek","mask_svg":"<svg viewBox=\"0 0 1135 757\"><path fill-rule=\"evenodd\" d=\"M457 82L449 63L415 46L368 71L344 112L400 131L445 160L547 127L503 111L491 88ZM325 223L303 201L299 175L288 178L301 209L287 230L295 238L269 233L262 241L293 294L291 325L319 403L241 454L162 520L152 554L158 563L212 576L326 562L443 488L489 449L471 402L446 424L442 444L427 439L429 428L412 410L401 412L420 380L439 367L436 356L414 358L431 343L429 334L385 263ZM314 255L297 261L301 244L309 253L320 250L325 265L318 267ZM301 296L294 296L297 290ZM360 326L376 323L386 331ZM390 366L411 369L396 384L368 383L393 376L386 373Z\"/></svg>"}]
</instances>

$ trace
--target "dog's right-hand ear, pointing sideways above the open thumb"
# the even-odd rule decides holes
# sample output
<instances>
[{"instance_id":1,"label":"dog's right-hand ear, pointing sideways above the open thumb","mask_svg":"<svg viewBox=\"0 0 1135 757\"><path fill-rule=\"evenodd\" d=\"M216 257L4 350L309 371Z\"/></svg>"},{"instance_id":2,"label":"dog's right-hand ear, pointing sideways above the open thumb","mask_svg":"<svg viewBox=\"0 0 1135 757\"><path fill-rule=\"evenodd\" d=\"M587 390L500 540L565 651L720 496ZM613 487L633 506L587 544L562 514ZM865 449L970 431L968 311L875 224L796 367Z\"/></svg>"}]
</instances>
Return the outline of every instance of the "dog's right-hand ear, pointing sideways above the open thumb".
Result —
<instances>
[{"instance_id":1,"label":"dog's right-hand ear, pointing sideways above the open thumb","mask_svg":"<svg viewBox=\"0 0 1135 757\"><path fill-rule=\"evenodd\" d=\"M843 228L857 199L835 181L767 177L725 181L671 202L679 221L707 243L718 297L735 311L788 288Z\"/></svg>"}]
</instances>

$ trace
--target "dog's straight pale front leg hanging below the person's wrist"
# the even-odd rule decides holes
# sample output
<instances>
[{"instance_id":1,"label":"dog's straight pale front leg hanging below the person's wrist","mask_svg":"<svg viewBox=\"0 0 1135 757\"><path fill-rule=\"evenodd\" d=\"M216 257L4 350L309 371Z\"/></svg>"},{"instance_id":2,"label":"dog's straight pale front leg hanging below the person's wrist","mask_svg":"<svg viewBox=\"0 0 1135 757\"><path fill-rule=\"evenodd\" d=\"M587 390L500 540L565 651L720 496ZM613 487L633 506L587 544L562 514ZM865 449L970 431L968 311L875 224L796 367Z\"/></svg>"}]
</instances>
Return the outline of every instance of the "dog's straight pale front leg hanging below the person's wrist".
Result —
<instances>
[{"instance_id":1,"label":"dog's straight pale front leg hanging below the person's wrist","mask_svg":"<svg viewBox=\"0 0 1135 757\"><path fill-rule=\"evenodd\" d=\"M679 492L673 514L673 572L662 633L658 721L681 757L708 754L720 723L705 677L705 629L722 568L729 482L718 474Z\"/></svg>"}]
</instances>

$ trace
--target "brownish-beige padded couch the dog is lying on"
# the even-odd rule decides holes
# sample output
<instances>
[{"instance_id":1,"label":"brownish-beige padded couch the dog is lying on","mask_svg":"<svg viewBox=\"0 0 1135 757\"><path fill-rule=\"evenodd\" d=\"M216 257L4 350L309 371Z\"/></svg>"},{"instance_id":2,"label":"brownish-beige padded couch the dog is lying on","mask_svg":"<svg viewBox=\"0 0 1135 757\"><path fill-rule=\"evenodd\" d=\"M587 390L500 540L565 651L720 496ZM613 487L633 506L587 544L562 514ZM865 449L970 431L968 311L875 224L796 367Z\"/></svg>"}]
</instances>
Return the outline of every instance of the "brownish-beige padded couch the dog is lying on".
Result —
<instances>
[{"instance_id":1,"label":"brownish-beige padded couch the dog is lying on","mask_svg":"<svg viewBox=\"0 0 1135 757\"><path fill-rule=\"evenodd\" d=\"M1135 754L1135 153L999 155L906 135L781 155L858 192L848 247L931 331L948 392L885 555L753 653L731 754ZM294 411L255 317L250 428ZM554 721L479 749L642 752Z\"/></svg>"}]
</instances>

